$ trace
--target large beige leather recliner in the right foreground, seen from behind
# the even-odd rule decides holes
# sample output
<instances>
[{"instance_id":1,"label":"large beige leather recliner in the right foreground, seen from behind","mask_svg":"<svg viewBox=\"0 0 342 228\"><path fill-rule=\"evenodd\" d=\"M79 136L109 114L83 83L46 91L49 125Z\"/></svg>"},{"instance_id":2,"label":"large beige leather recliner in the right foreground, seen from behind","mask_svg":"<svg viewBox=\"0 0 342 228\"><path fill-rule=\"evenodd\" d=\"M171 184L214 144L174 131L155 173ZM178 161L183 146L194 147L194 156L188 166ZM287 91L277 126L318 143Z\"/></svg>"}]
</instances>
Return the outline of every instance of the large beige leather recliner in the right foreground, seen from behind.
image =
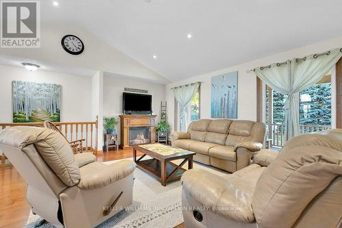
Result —
<instances>
[{"instance_id":1,"label":"large beige leather recliner in the right foreground, seen from behind","mask_svg":"<svg viewBox=\"0 0 342 228\"><path fill-rule=\"evenodd\" d=\"M255 164L226 177L186 171L186 227L340 227L342 130L292 138L274 153L262 150Z\"/></svg>"}]
</instances>

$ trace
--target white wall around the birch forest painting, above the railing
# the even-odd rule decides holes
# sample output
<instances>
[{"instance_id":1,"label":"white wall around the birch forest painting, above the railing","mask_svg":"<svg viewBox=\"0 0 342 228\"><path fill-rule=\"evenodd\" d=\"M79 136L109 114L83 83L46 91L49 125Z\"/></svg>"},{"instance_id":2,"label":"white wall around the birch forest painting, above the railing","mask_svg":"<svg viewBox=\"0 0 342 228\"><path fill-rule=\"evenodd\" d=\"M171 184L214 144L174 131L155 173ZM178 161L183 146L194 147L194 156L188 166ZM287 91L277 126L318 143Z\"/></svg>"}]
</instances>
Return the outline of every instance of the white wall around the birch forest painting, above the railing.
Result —
<instances>
[{"instance_id":1,"label":"white wall around the birch forest painting, above the railing","mask_svg":"<svg viewBox=\"0 0 342 228\"><path fill-rule=\"evenodd\" d=\"M23 67L0 65L0 123L12 123L12 81L35 81L62 86L61 121L95 121L90 103L92 78Z\"/></svg>"}]
</instances>

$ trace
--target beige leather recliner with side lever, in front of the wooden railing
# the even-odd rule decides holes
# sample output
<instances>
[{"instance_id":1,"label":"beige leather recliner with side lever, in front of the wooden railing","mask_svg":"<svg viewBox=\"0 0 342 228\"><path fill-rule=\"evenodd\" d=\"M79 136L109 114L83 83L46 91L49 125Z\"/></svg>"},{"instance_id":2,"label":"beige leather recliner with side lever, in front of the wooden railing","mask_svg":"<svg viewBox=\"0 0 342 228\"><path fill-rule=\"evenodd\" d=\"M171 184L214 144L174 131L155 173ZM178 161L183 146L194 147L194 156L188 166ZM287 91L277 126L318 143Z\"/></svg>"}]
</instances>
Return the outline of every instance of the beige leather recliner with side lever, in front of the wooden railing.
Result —
<instances>
[{"instance_id":1,"label":"beige leather recliner with side lever, in front of the wooden railing","mask_svg":"<svg viewBox=\"0 0 342 228\"><path fill-rule=\"evenodd\" d=\"M95 227L132 203L134 162L74 156L62 135L40 127L0 131L0 150L27 182L32 212L55 227Z\"/></svg>"}]
</instances>

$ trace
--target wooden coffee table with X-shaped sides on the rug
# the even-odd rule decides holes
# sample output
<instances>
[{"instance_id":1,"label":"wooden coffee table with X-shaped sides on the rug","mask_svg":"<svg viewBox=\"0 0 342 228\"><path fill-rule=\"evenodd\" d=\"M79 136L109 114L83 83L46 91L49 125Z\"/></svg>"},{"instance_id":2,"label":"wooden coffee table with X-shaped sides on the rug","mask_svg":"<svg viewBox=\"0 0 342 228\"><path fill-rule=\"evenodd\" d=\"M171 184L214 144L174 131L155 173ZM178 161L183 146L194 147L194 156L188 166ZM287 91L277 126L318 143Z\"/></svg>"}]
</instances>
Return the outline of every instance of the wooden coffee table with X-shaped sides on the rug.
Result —
<instances>
[{"instance_id":1,"label":"wooden coffee table with X-shaped sides on the rug","mask_svg":"<svg viewBox=\"0 0 342 228\"><path fill-rule=\"evenodd\" d=\"M182 167L185 162L188 162L188 169L191 169L193 156L196 154L192 151L159 143L139 144L132 147L133 159L137 166L159 179L162 186L166 186L166 183L181 178L181 175L186 171ZM137 159L137 151L144 153L144 155ZM142 160L146 155L152 158ZM172 162L179 159L183 159L179 165Z\"/></svg>"}]
</instances>

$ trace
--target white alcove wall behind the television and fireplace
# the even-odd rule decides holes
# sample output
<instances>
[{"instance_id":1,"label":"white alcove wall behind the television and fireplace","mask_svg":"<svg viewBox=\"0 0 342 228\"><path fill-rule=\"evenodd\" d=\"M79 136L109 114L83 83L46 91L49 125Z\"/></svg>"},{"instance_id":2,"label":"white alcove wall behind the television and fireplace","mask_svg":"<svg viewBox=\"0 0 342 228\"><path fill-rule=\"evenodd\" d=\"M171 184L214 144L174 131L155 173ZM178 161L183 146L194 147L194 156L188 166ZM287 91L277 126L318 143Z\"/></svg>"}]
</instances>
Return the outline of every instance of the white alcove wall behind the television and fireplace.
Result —
<instances>
[{"instance_id":1,"label":"white alcove wall behind the television and fireplace","mask_svg":"<svg viewBox=\"0 0 342 228\"><path fill-rule=\"evenodd\" d=\"M148 94L152 94L152 110L153 114L157 115L156 123L158 123L160 120L160 102L165 101L165 85L120 75L109 76L105 74L103 77L103 116L122 114L122 92L124 92L124 88L148 90ZM173 109L173 106L168 105L168 108ZM117 131L120 138L120 123Z\"/></svg>"}]
</instances>

